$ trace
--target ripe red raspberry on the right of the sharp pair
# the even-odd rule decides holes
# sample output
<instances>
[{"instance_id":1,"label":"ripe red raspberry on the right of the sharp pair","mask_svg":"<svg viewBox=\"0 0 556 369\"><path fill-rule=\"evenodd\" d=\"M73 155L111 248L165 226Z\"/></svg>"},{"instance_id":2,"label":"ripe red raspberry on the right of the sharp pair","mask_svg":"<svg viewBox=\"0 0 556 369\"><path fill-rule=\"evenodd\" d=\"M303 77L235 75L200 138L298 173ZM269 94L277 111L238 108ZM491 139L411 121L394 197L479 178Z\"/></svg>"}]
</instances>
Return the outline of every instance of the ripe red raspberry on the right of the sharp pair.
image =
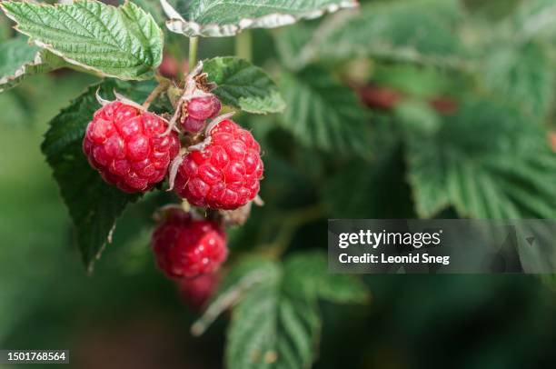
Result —
<instances>
[{"instance_id":1,"label":"ripe red raspberry on the right of the sharp pair","mask_svg":"<svg viewBox=\"0 0 556 369\"><path fill-rule=\"evenodd\" d=\"M203 151L185 156L175 192L195 206L231 210L247 204L259 193L263 176L259 144L231 120L220 122L209 136Z\"/></svg>"}]
</instances>

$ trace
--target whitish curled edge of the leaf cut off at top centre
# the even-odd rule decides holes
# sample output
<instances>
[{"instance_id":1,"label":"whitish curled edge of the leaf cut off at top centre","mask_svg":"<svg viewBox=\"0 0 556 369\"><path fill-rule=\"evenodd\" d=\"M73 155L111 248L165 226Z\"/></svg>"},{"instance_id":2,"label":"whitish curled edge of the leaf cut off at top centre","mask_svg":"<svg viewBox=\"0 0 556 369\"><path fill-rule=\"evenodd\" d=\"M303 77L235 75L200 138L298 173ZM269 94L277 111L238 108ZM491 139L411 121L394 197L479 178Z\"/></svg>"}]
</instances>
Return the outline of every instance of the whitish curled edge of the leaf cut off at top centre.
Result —
<instances>
[{"instance_id":1,"label":"whitish curled edge of the leaf cut off at top centre","mask_svg":"<svg viewBox=\"0 0 556 369\"><path fill-rule=\"evenodd\" d=\"M327 13L335 13L342 9L351 9L359 6L356 0L343 0L340 4L325 5L321 8L304 12L300 15L288 15L283 13L273 13L263 15L258 18L243 18L238 24L200 25L194 21L186 21L167 0L160 0L164 13L170 18L166 21L166 27L176 34L188 37L228 37L237 35L245 29L250 28L275 28L282 25L293 25L302 19L314 19Z\"/></svg>"}]
</instances>

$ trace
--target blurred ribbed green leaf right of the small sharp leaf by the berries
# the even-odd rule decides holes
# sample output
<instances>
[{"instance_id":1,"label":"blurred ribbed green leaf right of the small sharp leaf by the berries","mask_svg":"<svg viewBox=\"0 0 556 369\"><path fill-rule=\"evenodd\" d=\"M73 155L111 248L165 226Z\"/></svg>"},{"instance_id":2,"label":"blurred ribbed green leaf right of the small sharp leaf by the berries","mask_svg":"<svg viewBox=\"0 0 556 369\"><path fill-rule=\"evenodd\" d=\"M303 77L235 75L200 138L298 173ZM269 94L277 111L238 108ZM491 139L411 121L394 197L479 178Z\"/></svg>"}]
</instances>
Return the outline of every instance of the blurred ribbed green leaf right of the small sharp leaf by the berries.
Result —
<instances>
[{"instance_id":1,"label":"blurred ribbed green leaf right of the small sharp leaf by the berries","mask_svg":"<svg viewBox=\"0 0 556 369\"><path fill-rule=\"evenodd\" d=\"M283 75L286 110L282 125L304 145L340 153L369 155L369 125L353 91L311 66Z\"/></svg>"}]
</instances>

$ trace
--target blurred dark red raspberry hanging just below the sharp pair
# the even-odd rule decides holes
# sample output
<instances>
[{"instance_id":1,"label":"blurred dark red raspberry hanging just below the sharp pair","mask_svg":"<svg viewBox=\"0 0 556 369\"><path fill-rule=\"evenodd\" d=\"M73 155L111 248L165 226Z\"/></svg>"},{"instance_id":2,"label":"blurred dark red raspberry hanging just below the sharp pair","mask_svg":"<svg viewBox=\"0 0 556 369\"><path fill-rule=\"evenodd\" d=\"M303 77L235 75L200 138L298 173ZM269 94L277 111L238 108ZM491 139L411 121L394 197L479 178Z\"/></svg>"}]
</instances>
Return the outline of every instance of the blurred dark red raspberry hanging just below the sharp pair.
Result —
<instances>
[{"instance_id":1,"label":"blurred dark red raspberry hanging just below the sharp pair","mask_svg":"<svg viewBox=\"0 0 556 369\"><path fill-rule=\"evenodd\" d=\"M171 278L193 278L215 272L228 255L226 234L210 221L171 211L153 234L158 267Z\"/></svg>"}]
</instances>

